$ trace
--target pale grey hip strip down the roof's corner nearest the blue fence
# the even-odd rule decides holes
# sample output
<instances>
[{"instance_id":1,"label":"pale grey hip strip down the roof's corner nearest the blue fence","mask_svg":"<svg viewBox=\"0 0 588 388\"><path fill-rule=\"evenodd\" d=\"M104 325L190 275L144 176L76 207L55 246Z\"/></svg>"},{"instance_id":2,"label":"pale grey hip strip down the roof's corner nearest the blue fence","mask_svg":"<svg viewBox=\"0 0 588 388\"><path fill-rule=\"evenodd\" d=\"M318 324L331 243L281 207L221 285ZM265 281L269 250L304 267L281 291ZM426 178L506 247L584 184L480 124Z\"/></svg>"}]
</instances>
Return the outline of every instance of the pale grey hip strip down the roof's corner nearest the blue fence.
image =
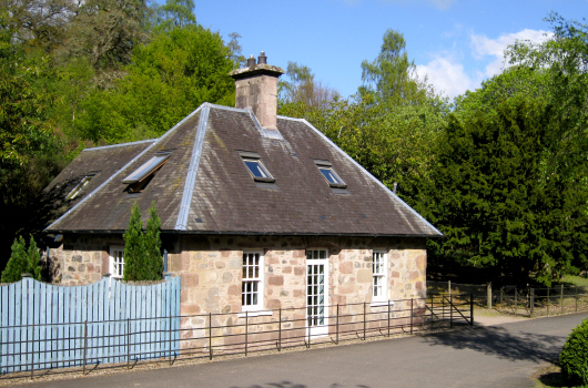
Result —
<instances>
[{"instance_id":1,"label":"pale grey hip strip down the roof's corner nearest the blue fence","mask_svg":"<svg viewBox=\"0 0 588 388\"><path fill-rule=\"evenodd\" d=\"M204 135L206 133L206 126L209 124L209 114L211 111L211 104L204 103L201 105L202 113L199 120L199 126L196 129L196 139L192 149L192 157L190 159L190 166L184 184L184 191L182 194L182 202L180 204L180 213L178 214L178 221L175 222L175 231L185 231L187 227L187 215L190 213L190 204L192 202L192 195L194 193L194 184L196 182L196 173L200 165L200 156L202 155L202 146L204 144ZM200 108L199 108L200 109Z\"/></svg>"}]
</instances>

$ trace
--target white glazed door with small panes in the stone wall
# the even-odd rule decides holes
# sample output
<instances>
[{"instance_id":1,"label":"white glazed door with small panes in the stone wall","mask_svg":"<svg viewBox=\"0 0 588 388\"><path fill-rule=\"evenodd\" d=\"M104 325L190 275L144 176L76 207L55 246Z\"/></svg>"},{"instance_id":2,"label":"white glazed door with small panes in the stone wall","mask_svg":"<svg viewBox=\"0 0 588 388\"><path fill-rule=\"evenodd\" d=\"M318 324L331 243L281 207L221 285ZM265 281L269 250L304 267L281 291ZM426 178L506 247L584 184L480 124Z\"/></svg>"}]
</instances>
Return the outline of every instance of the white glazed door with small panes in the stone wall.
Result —
<instances>
[{"instance_id":1,"label":"white glazed door with small panes in the stone wall","mask_svg":"<svg viewBox=\"0 0 588 388\"><path fill-rule=\"evenodd\" d=\"M328 335L328 254L326 249L306 251L307 335Z\"/></svg>"}]
</instances>

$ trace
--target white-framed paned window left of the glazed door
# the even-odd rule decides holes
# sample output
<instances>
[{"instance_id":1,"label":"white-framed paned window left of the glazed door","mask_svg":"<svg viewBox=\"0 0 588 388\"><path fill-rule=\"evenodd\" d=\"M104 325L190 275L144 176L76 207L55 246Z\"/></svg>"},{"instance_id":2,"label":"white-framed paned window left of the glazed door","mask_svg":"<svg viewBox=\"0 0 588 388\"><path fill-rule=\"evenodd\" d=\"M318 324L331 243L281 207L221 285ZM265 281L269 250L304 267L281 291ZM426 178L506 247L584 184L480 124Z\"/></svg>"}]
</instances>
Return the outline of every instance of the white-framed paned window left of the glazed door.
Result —
<instances>
[{"instance_id":1,"label":"white-framed paned window left of the glazed door","mask_svg":"<svg viewBox=\"0 0 588 388\"><path fill-rule=\"evenodd\" d=\"M243 312L263 309L263 253L243 252L241 306Z\"/></svg>"}]
</instances>

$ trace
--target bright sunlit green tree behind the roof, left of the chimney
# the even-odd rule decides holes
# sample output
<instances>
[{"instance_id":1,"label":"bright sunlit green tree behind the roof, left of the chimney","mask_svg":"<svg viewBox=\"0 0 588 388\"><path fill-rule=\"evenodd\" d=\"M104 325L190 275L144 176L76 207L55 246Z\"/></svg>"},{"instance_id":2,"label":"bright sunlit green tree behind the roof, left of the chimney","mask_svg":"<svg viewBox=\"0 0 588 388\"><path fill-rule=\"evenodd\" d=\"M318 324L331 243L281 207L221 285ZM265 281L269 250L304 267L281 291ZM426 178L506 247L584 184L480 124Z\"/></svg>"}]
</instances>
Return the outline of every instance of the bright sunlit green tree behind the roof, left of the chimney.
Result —
<instances>
[{"instance_id":1,"label":"bright sunlit green tree behind the roof, left of the chimney","mask_svg":"<svg viewBox=\"0 0 588 388\"><path fill-rule=\"evenodd\" d=\"M140 45L128 75L82 103L77 127L84 139L119 143L161 135L203 102L234 105L231 50L196 25L158 34Z\"/></svg>"}]
</instances>

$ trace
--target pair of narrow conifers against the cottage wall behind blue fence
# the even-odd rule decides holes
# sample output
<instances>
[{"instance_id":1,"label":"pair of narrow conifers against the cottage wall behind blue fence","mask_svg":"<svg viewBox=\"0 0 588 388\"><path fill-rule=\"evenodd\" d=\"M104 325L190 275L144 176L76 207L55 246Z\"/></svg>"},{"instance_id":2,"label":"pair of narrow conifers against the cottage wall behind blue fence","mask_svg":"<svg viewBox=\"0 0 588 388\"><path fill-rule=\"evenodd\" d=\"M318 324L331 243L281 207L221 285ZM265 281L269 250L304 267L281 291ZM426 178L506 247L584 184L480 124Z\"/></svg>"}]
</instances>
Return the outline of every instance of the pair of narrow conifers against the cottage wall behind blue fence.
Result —
<instances>
[{"instance_id":1,"label":"pair of narrow conifers against the cottage wall behind blue fence","mask_svg":"<svg viewBox=\"0 0 588 388\"><path fill-rule=\"evenodd\" d=\"M149 208L148 228L142 229L141 210L133 205L124 238L124 280L159 280L163 272L160 228L155 203Z\"/></svg>"}]
</instances>

